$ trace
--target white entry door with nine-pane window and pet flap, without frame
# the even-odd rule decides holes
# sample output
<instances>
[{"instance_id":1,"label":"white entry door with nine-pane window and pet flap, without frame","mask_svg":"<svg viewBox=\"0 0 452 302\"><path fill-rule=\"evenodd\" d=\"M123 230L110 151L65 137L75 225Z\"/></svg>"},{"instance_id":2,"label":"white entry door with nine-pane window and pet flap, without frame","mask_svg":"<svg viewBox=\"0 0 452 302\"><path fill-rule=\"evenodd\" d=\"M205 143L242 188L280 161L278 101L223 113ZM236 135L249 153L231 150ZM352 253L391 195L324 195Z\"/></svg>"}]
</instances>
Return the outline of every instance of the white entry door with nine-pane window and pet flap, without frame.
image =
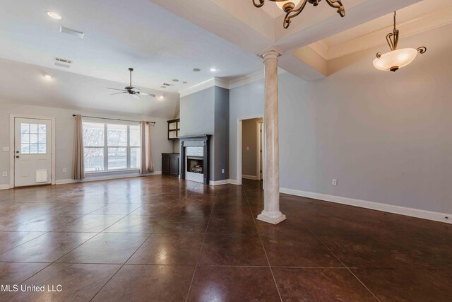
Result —
<instances>
[{"instance_id":1,"label":"white entry door with nine-pane window and pet flap, without frame","mask_svg":"<svg viewBox=\"0 0 452 302\"><path fill-rule=\"evenodd\" d=\"M52 183L52 121L14 119L14 186Z\"/></svg>"}]
</instances>

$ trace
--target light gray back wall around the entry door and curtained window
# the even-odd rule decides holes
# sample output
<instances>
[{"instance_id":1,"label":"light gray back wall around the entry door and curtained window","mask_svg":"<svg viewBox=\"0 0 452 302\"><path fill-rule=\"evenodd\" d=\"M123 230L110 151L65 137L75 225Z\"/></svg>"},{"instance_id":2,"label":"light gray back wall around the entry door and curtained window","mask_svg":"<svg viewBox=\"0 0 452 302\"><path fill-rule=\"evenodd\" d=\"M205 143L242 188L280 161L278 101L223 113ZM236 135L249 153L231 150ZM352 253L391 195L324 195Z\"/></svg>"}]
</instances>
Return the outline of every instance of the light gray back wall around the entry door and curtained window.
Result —
<instances>
[{"instance_id":1,"label":"light gray back wall around the entry door and curtained window","mask_svg":"<svg viewBox=\"0 0 452 302\"><path fill-rule=\"evenodd\" d=\"M72 115L80 113L82 115L92 115L99 117L122 118L126 120L152 120L157 122L152 128L152 153L154 170L162 170L163 152L172 151L172 142L167 139L166 119L154 119L153 117L133 116L133 115L112 115L102 112L88 112L83 110L67 110L61 108L48 108L31 105L20 105L13 103L0 103L0 148L9 146L9 117L11 114L20 115L39 115L44 117L55 117L55 136L56 136L56 174L57 180L71 179L72 175L72 154L73 154L73 132L74 119ZM64 173L63 169L67 168ZM8 177L1 177L0 185L9 183L9 152L3 152L0 149L0 172L7 171Z\"/></svg>"}]
</instances>

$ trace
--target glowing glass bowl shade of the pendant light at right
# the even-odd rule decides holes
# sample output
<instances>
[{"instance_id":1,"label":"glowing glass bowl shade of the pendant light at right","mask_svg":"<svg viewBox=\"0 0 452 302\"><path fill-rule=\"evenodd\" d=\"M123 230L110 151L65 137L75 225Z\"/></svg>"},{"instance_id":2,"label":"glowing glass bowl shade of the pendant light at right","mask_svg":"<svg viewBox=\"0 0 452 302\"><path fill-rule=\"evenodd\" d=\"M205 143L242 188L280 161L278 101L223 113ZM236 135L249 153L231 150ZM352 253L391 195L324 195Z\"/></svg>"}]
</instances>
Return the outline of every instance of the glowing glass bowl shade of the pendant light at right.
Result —
<instances>
[{"instance_id":1,"label":"glowing glass bowl shade of the pendant light at right","mask_svg":"<svg viewBox=\"0 0 452 302\"><path fill-rule=\"evenodd\" d=\"M383 71L396 71L403 66L407 66L415 60L417 50L414 48L403 48L381 54L381 57L374 59L376 69Z\"/></svg>"}]
</instances>

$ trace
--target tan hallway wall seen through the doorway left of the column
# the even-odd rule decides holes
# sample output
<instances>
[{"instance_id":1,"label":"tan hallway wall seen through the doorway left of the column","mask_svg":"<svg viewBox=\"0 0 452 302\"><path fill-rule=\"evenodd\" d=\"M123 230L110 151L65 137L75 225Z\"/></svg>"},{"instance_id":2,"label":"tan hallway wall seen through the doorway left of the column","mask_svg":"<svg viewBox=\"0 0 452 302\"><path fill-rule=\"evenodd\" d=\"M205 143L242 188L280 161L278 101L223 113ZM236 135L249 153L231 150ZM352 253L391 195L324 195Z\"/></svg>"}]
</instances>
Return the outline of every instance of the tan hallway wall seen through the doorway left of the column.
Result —
<instances>
[{"instance_id":1,"label":"tan hallway wall seen through the doorway left of the column","mask_svg":"<svg viewBox=\"0 0 452 302\"><path fill-rule=\"evenodd\" d=\"M242 175L257 176L257 122L250 119L242 122Z\"/></svg>"}]
</instances>

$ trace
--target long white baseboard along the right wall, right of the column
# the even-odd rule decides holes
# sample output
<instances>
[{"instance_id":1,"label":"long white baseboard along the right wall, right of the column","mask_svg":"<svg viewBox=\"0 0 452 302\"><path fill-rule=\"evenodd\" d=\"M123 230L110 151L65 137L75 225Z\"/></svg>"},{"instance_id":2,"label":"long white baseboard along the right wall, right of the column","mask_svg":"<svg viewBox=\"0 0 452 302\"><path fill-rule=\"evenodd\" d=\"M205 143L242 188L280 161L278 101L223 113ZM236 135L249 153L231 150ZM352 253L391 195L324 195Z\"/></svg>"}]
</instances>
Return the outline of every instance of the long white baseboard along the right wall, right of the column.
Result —
<instances>
[{"instance_id":1,"label":"long white baseboard along the right wall, right of the column","mask_svg":"<svg viewBox=\"0 0 452 302\"><path fill-rule=\"evenodd\" d=\"M361 207L365 209L372 209L376 211L385 211L388 213L411 216L416 218L428 219L433 221L440 221L452 224L452 214L439 213L435 211L426 211L422 209L413 209L408 207L399 207L392 204L381 204L379 202L368 202L361 199L352 199L347 197L340 197L335 195L306 192L300 190L280 188L280 192L295 196L313 198L324 200L326 202L335 202L336 204L347 204L349 206Z\"/></svg>"}]
</instances>

